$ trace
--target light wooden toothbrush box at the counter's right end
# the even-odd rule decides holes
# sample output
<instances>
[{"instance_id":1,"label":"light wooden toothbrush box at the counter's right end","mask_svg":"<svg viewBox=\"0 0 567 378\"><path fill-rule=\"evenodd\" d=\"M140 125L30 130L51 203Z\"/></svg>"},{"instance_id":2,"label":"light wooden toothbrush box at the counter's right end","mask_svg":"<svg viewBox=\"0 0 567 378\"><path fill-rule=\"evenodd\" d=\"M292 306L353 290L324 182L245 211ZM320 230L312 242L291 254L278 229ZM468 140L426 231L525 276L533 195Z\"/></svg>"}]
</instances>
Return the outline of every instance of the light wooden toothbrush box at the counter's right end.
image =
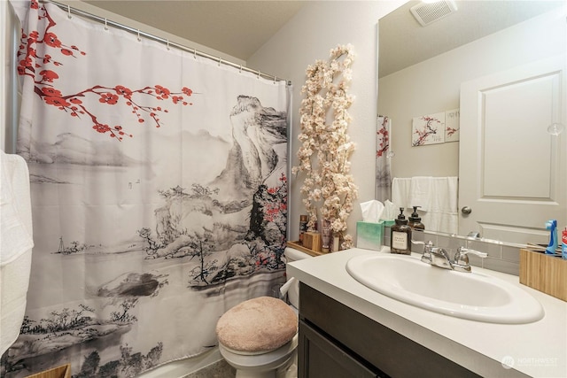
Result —
<instances>
[{"instance_id":1,"label":"light wooden toothbrush box at the counter's right end","mask_svg":"<svg viewBox=\"0 0 567 378\"><path fill-rule=\"evenodd\" d=\"M520 283L567 301L567 260L520 250Z\"/></svg>"}]
</instances>

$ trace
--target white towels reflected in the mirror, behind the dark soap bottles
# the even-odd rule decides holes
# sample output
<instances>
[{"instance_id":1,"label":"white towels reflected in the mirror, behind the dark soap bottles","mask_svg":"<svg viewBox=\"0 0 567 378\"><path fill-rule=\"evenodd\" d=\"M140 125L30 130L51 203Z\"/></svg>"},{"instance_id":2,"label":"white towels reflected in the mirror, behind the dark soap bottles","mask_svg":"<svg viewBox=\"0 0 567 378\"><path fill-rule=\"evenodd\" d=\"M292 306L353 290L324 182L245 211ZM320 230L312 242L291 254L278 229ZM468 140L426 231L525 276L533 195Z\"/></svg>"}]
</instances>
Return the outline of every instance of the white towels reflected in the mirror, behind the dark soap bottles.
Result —
<instances>
[{"instance_id":1,"label":"white towels reflected in the mirror, behind the dark soap bottles","mask_svg":"<svg viewBox=\"0 0 567 378\"><path fill-rule=\"evenodd\" d=\"M458 178L416 176L394 178L392 202L405 207L406 218L413 206L421 206L418 213L426 230L456 234L459 212L457 204Z\"/></svg>"}]
</instances>

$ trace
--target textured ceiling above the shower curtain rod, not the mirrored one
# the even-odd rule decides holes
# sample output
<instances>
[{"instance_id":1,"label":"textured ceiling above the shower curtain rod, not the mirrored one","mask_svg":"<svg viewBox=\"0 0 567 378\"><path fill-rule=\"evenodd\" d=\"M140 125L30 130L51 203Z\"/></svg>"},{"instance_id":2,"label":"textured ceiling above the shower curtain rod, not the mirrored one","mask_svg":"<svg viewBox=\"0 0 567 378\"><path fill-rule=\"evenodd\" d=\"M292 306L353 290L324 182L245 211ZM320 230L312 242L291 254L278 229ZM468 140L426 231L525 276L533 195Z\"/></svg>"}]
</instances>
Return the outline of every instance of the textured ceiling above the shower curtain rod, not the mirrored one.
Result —
<instances>
[{"instance_id":1,"label":"textured ceiling above the shower curtain rod, not the mirrored one","mask_svg":"<svg viewBox=\"0 0 567 378\"><path fill-rule=\"evenodd\" d=\"M305 4L302 1L83 0L246 60Z\"/></svg>"}]
</instances>

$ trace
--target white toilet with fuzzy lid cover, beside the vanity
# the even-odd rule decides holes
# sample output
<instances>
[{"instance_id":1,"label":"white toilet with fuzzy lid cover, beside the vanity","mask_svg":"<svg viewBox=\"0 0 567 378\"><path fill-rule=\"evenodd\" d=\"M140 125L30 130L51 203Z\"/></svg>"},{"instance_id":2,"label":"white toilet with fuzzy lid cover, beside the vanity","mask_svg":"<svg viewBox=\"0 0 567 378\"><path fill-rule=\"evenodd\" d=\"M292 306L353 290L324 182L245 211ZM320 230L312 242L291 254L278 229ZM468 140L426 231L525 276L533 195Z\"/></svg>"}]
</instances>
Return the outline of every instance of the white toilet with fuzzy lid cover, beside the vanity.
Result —
<instances>
[{"instance_id":1,"label":"white toilet with fuzzy lid cover, beside the vanity","mask_svg":"<svg viewBox=\"0 0 567 378\"><path fill-rule=\"evenodd\" d=\"M291 248L284 255L288 263L311 257ZM299 282L288 277L283 287L291 305L275 297L252 298L217 322L219 351L237 378L297 378Z\"/></svg>"}]
</instances>

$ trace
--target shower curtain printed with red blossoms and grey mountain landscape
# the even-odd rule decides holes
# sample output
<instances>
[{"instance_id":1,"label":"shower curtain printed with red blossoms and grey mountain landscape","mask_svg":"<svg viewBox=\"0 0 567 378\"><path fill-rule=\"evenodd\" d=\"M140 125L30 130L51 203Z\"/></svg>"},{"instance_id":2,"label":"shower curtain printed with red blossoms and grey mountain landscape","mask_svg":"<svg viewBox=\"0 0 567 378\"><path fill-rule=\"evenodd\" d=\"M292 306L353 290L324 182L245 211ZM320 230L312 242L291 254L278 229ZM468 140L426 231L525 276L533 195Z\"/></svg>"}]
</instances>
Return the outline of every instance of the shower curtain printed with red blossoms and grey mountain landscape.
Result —
<instances>
[{"instance_id":1,"label":"shower curtain printed with red blossoms and grey mountain landscape","mask_svg":"<svg viewBox=\"0 0 567 378\"><path fill-rule=\"evenodd\" d=\"M290 90L15 2L35 248L1 375L131 377L217 344L284 282Z\"/></svg>"}]
</instances>

